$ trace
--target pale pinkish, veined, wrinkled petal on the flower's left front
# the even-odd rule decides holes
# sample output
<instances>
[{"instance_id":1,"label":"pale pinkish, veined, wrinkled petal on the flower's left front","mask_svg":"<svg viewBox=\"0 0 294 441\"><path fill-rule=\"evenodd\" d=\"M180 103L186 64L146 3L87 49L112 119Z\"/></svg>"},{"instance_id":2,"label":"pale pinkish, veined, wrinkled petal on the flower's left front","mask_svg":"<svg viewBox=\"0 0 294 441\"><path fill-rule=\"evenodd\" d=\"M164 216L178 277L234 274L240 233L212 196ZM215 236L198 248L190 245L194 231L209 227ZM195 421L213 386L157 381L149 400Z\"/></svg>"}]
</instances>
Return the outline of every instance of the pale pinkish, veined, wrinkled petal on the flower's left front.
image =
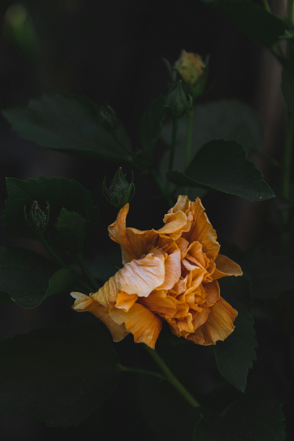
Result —
<instances>
[{"instance_id":1,"label":"pale pinkish, veined, wrinkled petal on the flower's left front","mask_svg":"<svg viewBox=\"0 0 294 441\"><path fill-rule=\"evenodd\" d=\"M164 282L164 275L164 255L147 254L145 258L126 263L91 297L108 307L116 302L119 291L147 297Z\"/></svg>"}]
</instances>

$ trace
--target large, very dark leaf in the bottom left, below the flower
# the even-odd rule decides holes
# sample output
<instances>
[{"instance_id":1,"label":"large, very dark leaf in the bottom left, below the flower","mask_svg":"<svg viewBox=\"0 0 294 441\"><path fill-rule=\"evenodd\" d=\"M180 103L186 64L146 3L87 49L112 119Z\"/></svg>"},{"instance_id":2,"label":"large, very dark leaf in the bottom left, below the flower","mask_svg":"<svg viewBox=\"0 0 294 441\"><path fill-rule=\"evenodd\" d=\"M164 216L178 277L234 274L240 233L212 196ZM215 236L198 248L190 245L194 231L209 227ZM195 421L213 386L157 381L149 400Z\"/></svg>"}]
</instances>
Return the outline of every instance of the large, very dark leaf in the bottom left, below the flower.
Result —
<instances>
[{"instance_id":1,"label":"large, very dark leaf in the bottom left, below the flower","mask_svg":"<svg viewBox=\"0 0 294 441\"><path fill-rule=\"evenodd\" d=\"M15 336L0 354L0 413L48 426L78 426L119 383L118 356L95 320Z\"/></svg>"}]
</instances>

